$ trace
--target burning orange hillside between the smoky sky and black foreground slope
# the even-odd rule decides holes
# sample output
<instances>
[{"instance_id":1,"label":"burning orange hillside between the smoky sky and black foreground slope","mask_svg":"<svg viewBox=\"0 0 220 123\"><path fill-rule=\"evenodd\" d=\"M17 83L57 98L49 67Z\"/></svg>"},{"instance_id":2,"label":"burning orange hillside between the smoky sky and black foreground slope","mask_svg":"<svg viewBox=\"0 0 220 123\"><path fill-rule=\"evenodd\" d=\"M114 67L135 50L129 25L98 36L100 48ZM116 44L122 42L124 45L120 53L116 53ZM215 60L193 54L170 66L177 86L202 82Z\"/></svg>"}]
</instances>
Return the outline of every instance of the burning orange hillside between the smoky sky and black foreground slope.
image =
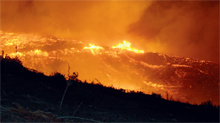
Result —
<instances>
[{"instance_id":1,"label":"burning orange hillside between the smoky sky and black foreground slope","mask_svg":"<svg viewBox=\"0 0 220 123\"><path fill-rule=\"evenodd\" d=\"M219 104L219 64L211 61L144 52L128 41L112 47L77 40L1 31L5 55L47 75L78 72L81 80L128 90L158 93L192 104ZM16 49L17 48L17 49ZM17 51L16 51L17 50Z\"/></svg>"}]
</instances>

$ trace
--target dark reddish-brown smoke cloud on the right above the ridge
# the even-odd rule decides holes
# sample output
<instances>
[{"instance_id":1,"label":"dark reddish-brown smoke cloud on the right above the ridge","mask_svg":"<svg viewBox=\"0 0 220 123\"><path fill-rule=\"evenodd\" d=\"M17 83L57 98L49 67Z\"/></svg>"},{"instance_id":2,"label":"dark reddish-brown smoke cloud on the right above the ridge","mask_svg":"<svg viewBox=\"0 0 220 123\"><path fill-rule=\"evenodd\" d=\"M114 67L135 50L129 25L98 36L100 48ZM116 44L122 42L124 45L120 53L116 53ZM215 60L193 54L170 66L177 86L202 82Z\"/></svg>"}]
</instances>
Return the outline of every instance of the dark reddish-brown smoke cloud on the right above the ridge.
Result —
<instances>
[{"instance_id":1,"label":"dark reddish-brown smoke cloud on the right above the ridge","mask_svg":"<svg viewBox=\"0 0 220 123\"><path fill-rule=\"evenodd\" d=\"M218 1L156 1L128 32L145 50L219 61Z\"/></svg>"}]
</instances>

